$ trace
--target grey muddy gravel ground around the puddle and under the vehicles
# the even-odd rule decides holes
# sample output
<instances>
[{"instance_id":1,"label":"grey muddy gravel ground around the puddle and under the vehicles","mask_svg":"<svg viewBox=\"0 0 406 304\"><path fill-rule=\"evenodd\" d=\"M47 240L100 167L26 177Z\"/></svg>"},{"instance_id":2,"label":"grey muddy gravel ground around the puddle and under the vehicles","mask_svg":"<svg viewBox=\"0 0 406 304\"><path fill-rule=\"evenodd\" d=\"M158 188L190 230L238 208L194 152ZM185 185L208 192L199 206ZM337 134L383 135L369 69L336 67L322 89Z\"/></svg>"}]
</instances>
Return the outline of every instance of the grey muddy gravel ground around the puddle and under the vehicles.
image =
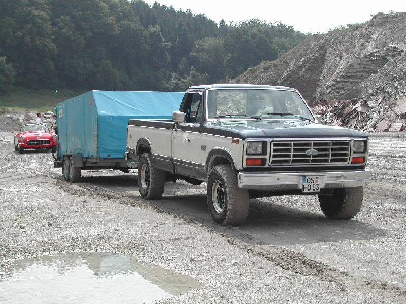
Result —
<instances>
[{"instance_id":1,"label":"grey muddy gravel ground around the puddle and under the vehicles","mask_svg":"<svg viewBox=\"0 0 406 304\"><path fill-rule=\"evenodd\" d=\"M19 155L12 140L0 133L2 269L58 252L129 253L204 284L159 303L406 302L406 135L371 134L373 177L354 219L326 219L316 196L282 196L252 200L241 227L212 222L206 184L167 183L163 199L144 201L135 171L70 184L49 152Z\"/></svg>"}]
</instances>

